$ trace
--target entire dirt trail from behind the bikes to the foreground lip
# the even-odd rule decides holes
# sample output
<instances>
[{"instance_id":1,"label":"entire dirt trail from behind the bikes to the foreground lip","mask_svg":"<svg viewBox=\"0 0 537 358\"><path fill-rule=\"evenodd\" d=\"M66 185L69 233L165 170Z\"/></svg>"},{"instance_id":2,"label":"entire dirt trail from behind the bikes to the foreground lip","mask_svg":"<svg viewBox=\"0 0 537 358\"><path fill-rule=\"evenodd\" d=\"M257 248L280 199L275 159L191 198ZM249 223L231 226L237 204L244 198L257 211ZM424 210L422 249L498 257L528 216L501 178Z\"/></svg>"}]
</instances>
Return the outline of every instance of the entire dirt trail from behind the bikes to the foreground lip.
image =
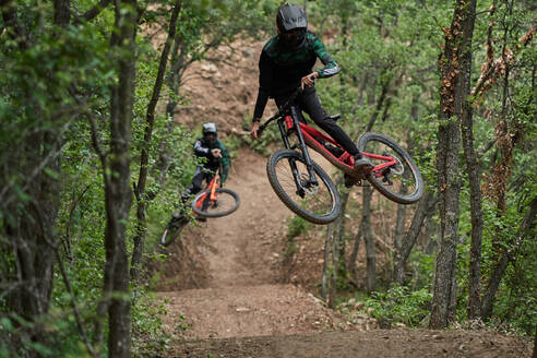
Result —
<instances>
[{"instance_id":1,"label":"entire dirt trail from behind the bikes to the foreground lip","mask_svg":"<svg viewBox=\"0 0 537 358\"><path fill-rule=\"evenodd\" d=\"M241 206L186 234L203 242L208 277L201 288L158 294L169 312L164 326L180 337L168 357L530 357L530 343L493 332L359 331L282 282L289 211L270 187L265 160L241 150L227 184Z\"/></svg>"}]
</instances>

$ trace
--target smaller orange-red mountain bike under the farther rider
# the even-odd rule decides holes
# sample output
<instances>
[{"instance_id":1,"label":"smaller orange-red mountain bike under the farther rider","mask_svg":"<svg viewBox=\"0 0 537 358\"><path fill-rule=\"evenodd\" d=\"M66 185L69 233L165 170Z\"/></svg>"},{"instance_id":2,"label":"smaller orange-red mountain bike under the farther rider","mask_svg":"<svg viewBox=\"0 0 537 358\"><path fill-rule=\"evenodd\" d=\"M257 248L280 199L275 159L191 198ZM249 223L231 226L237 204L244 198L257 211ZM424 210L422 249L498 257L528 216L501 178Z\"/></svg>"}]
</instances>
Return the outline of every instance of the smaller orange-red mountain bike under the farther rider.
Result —
<instances>
[{"instance_id":1,"label":"smaller orange-red mountain bike under the farther rider","mask_svg":"<svg viewBox=\"0 0 537 358\"><path fill-rule=\"evenodd\" d=\"M205 190L194 196L191 206L198 218L226 216L239 207L239 195L235 191L222 187L220 172L222 163ZM188 222L189 219L184 216L171 216L160 237L160 244L169 246L174 242Z\"/></svg>"}]
</instances>

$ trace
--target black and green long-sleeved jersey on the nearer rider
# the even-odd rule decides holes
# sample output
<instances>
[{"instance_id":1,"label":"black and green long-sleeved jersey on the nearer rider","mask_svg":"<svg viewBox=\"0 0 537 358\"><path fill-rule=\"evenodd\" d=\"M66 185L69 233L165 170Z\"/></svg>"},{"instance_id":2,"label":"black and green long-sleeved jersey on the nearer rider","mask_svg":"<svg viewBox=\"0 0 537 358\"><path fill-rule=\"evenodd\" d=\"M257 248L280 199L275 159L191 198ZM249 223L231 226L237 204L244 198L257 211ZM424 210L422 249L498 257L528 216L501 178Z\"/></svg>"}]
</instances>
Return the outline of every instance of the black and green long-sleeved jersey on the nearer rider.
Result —
<instances>
[{"instance_id":1,"label":"black and green long-sleeved jersey on the nearer rider","mask_svg":"<svg viewBox=\"0 0 537 358\"><path fill-rule=\"evenodd\" d=\"M307 33L305 45L289 51L279 44L279 36L271 38L259 60L259 93L253 118L263 116L268 97L285 96L300 85L300 80L312 72L319 58L324 67L319 69L319 77L330 77L339 72L334 59L323 43L312 32Z\"/></svg>"}]
</instances>

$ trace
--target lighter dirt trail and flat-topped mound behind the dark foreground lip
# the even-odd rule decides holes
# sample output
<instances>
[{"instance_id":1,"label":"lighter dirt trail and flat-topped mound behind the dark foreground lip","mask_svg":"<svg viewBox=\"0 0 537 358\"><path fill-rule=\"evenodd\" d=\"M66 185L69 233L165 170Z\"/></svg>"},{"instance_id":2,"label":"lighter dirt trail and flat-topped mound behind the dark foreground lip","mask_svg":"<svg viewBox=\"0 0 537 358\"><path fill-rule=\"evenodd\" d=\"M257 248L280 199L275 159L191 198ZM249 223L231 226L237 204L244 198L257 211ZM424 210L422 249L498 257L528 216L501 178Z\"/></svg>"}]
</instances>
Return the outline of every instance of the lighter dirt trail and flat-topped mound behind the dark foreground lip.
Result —
<instances>
[{"instance_id":1,"label":"lighter dirt trail and flat-topped mound behind the dark foreground lip","mask_svg":"<svg viewBox=\"0 0 537 358\"><path fill-rule=\"evenodd\" d=\"M208 279L204 288L160 294L170 312L169 332L181 323L180 315L190 326L189 338L317 332L341 321L312 295L281 284L289 212L272 191L265 162L241 150L226 183L239 194L239 210L190 231L205 242Z\"/></svg>"}]
</instances>

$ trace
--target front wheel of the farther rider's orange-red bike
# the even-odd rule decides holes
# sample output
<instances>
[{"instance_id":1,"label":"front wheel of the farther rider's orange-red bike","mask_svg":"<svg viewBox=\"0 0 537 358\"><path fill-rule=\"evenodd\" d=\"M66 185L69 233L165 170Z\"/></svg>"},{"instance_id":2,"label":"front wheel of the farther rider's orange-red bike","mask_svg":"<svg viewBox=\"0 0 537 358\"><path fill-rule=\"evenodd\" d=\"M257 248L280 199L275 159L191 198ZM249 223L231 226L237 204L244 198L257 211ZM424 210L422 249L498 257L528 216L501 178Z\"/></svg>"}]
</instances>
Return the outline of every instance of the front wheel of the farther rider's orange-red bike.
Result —
<instances>
[{"instance_id":1,"label":"front wheel of the farther rider's orange-red bike","mask_svg":"<svg viewBox=\"0 0 537 358\"><path fill-rule=\"evenodd\" d=\"M216 189L215 201L212 201L210 195L211 190L204 190L195 195L192 201L194 213L203 217L220 217L231 214L239 207L239 195L229 189Z\"/></svg>"}]
</instances>

